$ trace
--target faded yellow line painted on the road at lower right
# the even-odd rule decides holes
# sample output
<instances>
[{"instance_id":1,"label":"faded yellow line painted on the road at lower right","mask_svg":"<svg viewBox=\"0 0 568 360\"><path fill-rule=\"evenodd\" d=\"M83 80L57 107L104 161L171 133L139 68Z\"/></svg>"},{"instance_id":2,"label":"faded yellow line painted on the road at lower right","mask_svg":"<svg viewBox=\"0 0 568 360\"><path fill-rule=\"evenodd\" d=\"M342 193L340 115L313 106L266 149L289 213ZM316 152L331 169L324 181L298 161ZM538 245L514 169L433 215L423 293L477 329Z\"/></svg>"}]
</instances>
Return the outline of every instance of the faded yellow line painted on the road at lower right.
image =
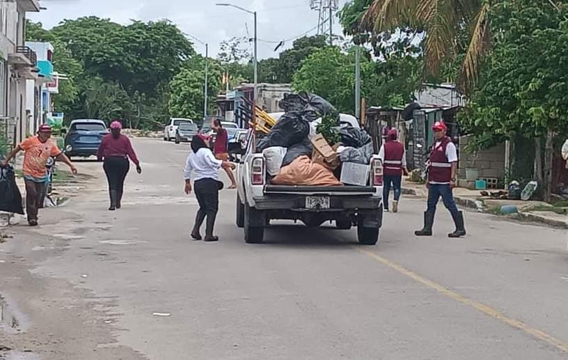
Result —
<instances>
[{"instance_id":1,"label":"faded yellow line painted on the road at lower right","mask_svg":"<svg viewBox=\"0 0 568 360\"><path fill-rule=\"evenodd\" d=\"M408 276L409 278L411 278L415 281L418 281L418 283L426 285L428 288L432 288L432 289L440 292L442 295L450 297L451 299L454 299L457 302L461 302L461 304L469 305L469 306L477 309L478 311L481 311L485 315L491 316L491 318L495 318L495 319L499 320L500 322L503 322L507 325L510 325L511 327L514 327L515 329L522 330L526 334L532 335L535 338L537 338L538 340L549 343L549 345L556 347L558 350L561 350L562 352L568 353L568 343L563 343L562 341L558 340L557 338L554 338L553 336L546 334L542 330L536 329L535 327L531 327L530 325L525 324L521 320L510 318L509 316L504 315L503 313L496 310L495 308L492 308L491 306L488 306L488 305L483 304L481 302L475 302L474 300L468 299L467 297L464 297L463 295L460 295L455 291L452 291L448 288L443 287L439 283L434 283L434 281L428 280L424 276L420 276L420 275L416 274L416 272L413 272L413 271L411 271L411 270L409 270L405 267L402 267L401 265L398 265L397 263L393 263L392 261L378 255L377 253L374 253L374 252L369 251L369 250L363 250L363 249L360 249L360 248L356 248L356 249L358 251L361 251L362 253L365 253L366 255L370 256L374 260L377 260L379 263L382 263L382 264L390 267L391 269L394 269L397 272L400 272L400 274L404 274L404 275Z\"/></svg>"}]
</instances>

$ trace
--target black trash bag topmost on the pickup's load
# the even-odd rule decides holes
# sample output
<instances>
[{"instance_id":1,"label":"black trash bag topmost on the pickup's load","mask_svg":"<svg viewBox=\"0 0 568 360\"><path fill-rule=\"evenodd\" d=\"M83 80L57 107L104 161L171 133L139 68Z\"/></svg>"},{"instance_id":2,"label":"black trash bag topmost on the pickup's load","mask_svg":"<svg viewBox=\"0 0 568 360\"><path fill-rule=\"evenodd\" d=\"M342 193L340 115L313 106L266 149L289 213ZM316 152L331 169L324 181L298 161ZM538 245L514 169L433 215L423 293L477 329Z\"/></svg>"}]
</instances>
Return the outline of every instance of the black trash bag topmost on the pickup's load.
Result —
<instances>
[{"instance_id":1,"label":"black trash bag topmost on the pickup's load","mask_svg":"<svg viewBox=\"0 0 568 360\"><path fill-rule=\"evenodd\" d=\"M337 110L323 97L301 91L297 94L285 94L280 107L285 112L299 111L308 121L316 120L324 115L336 114Z\"/></svg>"}]
</instances>

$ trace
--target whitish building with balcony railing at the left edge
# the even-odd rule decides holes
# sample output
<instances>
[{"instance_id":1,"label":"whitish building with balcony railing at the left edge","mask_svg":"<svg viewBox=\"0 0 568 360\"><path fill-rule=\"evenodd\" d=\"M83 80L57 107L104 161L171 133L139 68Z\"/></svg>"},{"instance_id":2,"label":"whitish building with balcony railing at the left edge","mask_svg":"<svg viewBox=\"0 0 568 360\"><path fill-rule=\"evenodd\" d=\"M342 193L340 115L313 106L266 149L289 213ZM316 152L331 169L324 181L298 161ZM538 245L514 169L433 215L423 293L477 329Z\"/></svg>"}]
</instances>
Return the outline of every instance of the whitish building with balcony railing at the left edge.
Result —
<instances>
[{"instance_id":1,"label":"whitish building with balcony railing at the left edge","mask_svg":"<svg viewBox=\"0 0 568 360\"><path fill-rule=\"evenodd\" d=\"M26 79L36 79L38 69L36 52L24 46L26 13L38 11L38 0L0 0L0 130L10 145L29 133Z\"/></svg>"}]
</instances>

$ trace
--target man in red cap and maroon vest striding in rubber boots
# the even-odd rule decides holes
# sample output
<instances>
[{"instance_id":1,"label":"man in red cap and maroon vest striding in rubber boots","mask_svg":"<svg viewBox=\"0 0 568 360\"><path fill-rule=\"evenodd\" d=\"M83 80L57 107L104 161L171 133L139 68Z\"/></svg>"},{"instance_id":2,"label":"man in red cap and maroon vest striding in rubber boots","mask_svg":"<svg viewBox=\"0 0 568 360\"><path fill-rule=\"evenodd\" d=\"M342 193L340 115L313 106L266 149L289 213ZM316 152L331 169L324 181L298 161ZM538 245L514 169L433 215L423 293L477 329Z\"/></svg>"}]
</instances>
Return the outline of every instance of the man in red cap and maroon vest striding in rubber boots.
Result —
<instances>
[{"instance_id":1,"label":"man in red cap and maroon vest striding in rubber boots","mask_svg":"<svg viewBox=\"0 0 568 360\"><path fill-rule=\"evenodd\" d=\"M464 214L457 209L452 194L452 189L456 186L457 149L452 140L446 136L448 128L443 122L436 121L432 130L434 130L434 144L427 162L428 208L424 213L424 228L414 233L417 236L432 236L436 204L441 196L445 207L452 214L456 227L448 237L461 237L466 235Z\"/></svg>"}]
</instances>

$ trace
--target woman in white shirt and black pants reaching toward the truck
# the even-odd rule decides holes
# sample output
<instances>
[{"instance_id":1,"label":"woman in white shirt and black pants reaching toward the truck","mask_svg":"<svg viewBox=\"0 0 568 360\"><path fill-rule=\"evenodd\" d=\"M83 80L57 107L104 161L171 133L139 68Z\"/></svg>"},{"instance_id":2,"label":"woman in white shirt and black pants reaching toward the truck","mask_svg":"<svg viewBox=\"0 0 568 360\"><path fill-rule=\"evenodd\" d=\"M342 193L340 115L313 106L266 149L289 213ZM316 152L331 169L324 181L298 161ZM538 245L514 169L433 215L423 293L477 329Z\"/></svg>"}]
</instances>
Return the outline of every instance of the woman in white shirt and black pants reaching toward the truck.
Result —
<instances>
[{"instance_id":1,"label":"woman in white shirt and black pants reaching toward the truck","mask_svg":"<svg viewBox=\"0 0 568 360\"><path fill-rule=\"evenodd\" d=\"M235 169L230 162L215 159L209 148L209 136L199 134L191 139L191 154L187 157L184 169L185 193L191 193L191 180L194 180L196 198L199 210L196 215L196 223L191 231L194 240L201 240L200 228L207 216L205 228L205 241L219 241L219 237L213 235L215 218L219 210L219 189L223 182L219 181L219 169Z\"/></svg>"}]
</instances>

